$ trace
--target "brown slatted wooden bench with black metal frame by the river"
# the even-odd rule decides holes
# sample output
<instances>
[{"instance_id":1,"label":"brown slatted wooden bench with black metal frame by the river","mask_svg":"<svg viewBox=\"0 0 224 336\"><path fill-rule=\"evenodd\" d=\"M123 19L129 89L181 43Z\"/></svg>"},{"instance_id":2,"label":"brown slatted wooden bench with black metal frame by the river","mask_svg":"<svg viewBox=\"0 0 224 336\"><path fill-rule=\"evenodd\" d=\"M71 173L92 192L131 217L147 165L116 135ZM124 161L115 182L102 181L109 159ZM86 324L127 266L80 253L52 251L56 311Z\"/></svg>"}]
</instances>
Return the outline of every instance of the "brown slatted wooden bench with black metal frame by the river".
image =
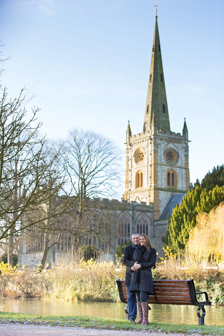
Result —
<instances>
[{"instance_id":1,"label":"brown slatted wooden bench with black metal frame by the river","mask_svg":"<svg viewBox=\"0 0 224 336\"><path fill-rule=\"evenodd\" d=\"M120 300L126 303L125 312L127 320L128 314L128 289L125 286L125 280L116 280ZM198 324L203 326L205 324L205 306L211 306L208 294L206 292L195 292L194 282L190 280L153 280L154 295L150 295L148 303L153 304L185 304L197 306ZM205 294L206 301L198 302L197 294ZM200 315L202 310L202 315Z\"/></svg>"}]
</instances>

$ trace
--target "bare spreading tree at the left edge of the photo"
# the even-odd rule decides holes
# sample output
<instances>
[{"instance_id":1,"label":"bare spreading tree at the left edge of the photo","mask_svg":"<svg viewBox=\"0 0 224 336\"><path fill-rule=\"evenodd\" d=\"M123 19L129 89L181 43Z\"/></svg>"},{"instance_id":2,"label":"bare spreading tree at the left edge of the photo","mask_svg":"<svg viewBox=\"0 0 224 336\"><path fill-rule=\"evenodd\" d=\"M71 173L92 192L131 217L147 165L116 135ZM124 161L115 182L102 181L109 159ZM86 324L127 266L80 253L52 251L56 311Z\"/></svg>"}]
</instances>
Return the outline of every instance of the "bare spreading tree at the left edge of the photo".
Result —
<instances>
[{"instance_id":1,"label":"bare spreading tree at the left edge of the photo","mask_svg":"<svg viewBox=\"0 0 224 336\"><path fill-rule=\"evenodd\" d=\"M11 264L13 246L22 230L43 222L50 226L50 219L70 206L70 197L66 197L63 207L40 211L62 192L66 181L57 164L60 150L53 150L49 157L45 138L39 138L39 109L34 108L26 121L26 110L21 109L23 91L18 99L7 102L3 89L0 99L0 241L8 240Z\"/></svg>"}]
</instances>

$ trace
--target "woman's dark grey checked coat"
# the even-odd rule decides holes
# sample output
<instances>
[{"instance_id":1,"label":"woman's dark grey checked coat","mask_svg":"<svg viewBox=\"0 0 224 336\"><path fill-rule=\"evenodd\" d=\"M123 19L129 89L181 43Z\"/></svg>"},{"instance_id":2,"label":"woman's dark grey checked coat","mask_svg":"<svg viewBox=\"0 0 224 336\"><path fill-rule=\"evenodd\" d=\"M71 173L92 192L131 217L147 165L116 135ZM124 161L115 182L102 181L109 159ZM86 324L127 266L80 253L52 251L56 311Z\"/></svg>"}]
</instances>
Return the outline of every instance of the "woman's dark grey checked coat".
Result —
<instances>
[{"instance_id":1,"label":"woman's dark grey checked coat","mask_svg":"<svg viewBox=\"0 0 224 336\"><path fill-rule=\"evenodd\" d=\"M137 257L137 249L135 249L133 253L132 261L137 261L136 257ZM149 294L153 295L154 289L153 289L151 268L155 266L156 250L150 249L149 252L147 252L147 250L144 251L144 253L142 254L142 260L143 260L143 263L140 264L141 268L140 268L138 284L134 282L134 272L135 271L131 270L132 277L131 277L129 291L130 292L144 291L144 292L148 292Z\"/></svg>"}]
</instances>

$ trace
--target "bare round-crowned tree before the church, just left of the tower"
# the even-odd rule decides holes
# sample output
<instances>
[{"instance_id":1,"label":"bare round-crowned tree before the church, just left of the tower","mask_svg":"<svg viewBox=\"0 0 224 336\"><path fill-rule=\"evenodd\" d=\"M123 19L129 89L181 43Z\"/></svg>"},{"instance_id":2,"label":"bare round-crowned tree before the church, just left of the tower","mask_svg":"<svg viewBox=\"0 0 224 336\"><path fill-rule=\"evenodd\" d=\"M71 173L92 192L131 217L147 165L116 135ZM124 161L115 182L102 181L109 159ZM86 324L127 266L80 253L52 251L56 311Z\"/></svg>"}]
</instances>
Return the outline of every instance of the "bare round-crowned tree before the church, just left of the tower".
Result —
<instances>
[{"instance_id":1,"label":"bare round-crowned tree before the church, just left of the tower","mask_svg":"<svg viewBox=\"0 0 224 336\"><path fill-rule=\"evenodd\" d=\"M90 199L116 195L121 183L122 153L105 136L78 129L70 131L64 148L64 167L76 196L74 214L69 217L67 229L74 237L77 249L83 244L81 237L101 236L104 239L112 233L115 235L114 208L101 206Z\"/></svg>"}]
</instances>

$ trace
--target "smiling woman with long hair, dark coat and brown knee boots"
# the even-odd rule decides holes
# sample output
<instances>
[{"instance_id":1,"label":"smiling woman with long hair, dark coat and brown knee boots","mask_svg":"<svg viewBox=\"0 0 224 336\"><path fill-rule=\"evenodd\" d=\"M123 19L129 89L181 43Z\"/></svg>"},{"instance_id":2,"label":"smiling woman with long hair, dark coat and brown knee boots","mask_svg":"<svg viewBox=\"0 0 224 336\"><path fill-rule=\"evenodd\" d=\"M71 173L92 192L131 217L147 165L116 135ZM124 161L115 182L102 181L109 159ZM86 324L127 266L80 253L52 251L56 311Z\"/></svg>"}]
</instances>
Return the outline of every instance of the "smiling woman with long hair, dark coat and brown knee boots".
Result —
<instances>
[{"instance_id":1,"label":"smiling woman with long hair, dark coat and brown knee boots","mask_svg":"<svg viewBox=\"0 0 224 336\"><path fill-rule=\"evenodd\" d=\"M139 245L133 253L132 261L135 263L131 267L129 291L135 292L137 296L139 314L137 324L145 325L148 324L148 295L154 295L151 268L156 262L156 250L147 235L140 235Z\"/></svg>"}]
</instances>

